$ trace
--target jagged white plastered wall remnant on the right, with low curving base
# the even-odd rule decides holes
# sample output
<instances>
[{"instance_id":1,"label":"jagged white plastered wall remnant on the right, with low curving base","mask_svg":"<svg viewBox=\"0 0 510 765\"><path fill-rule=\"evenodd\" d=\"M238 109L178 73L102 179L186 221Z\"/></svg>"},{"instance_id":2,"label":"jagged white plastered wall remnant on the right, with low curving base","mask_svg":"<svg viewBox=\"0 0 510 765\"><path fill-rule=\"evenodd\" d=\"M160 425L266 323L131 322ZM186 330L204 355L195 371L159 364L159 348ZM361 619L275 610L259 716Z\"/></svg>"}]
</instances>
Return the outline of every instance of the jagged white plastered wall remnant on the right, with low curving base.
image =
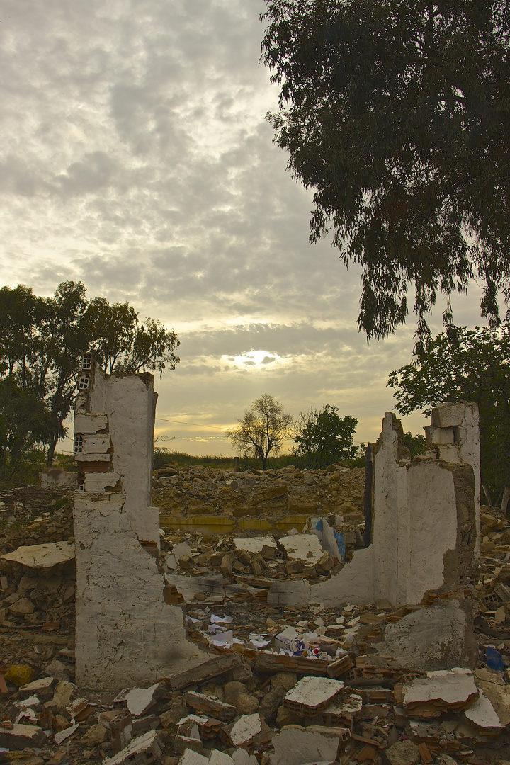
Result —
<instances>
[{"instance_id":1,"label":"jagged white plastered wall remnant on the right, with low curving base","mask_svg":"<svg viewBox=\"0 0 510 765\"><path fill-rule=\"evenodd\" d=\"M478 409L445 404L432 423L432 448L411 462L400 422L385 415L372 457L372 543L328 581L274 583L268 602L401 605L469 584L479 535Z\"/></svg>"}]
</instances>

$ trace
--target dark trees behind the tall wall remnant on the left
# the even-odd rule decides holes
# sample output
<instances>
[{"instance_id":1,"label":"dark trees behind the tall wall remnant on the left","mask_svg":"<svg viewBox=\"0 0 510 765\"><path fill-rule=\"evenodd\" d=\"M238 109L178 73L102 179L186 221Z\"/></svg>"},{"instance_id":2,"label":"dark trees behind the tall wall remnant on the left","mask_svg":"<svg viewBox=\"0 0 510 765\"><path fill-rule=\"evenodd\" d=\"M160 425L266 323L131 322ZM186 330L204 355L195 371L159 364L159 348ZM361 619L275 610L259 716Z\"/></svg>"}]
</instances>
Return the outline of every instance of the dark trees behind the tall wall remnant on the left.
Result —
<instances>
[{"instance_id":1,"label":"dark trees behind the tall wall remnant on the left","mask_svg":"<svg viewBox=\"0 0 510 765\"><path fill-rule=\"evenodd\" d=\"M175 369L177 335L126 303L86 298L82 282L63 282L41 298L24 285L0 289L0 477L14 474L34 446L55 448L67 434L82 353L109 374Z\"/></svg>"}]
</instances>

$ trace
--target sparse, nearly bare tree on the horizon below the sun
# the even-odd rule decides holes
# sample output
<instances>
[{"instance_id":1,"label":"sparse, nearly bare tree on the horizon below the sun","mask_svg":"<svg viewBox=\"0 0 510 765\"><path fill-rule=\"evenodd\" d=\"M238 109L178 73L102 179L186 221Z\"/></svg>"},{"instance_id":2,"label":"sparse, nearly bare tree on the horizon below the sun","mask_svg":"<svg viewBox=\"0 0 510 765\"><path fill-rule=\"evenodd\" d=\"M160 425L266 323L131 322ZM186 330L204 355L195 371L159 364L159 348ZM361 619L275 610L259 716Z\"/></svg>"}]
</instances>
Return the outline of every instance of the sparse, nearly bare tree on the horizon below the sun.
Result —
<instances>
[{"instance_id":1,"label":"sparse, nearly bare tree on the horizon below the sun","mask_svg":"<svg viewBox=\"0 0 510 765\"><path fill-rule=\"evenodd\" d=\"M292 415L284 412L283 404L268 393L255 399L238 422L238 427L225 435L245 457L258 457L262 470L266 469L269 453L278 454L285 438L292 435Z\"/></svg>"}]
</instances>

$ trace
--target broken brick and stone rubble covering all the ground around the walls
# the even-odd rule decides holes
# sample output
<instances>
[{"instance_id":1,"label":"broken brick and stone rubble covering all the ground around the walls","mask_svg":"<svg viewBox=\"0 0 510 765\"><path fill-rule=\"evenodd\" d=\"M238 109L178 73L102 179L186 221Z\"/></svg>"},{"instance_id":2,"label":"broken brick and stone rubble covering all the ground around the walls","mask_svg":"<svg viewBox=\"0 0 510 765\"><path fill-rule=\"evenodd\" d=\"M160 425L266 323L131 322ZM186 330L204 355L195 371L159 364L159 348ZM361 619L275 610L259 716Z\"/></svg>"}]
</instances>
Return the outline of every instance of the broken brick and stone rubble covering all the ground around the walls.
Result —
<instances>
[{"instance_id":1,"label":"broken brick and stone rubble covering all the ground around the walls","mask_svg":"<svg viewBox=\"0 0 510 765\"><path fill-rule=\"evenodd\" d=\"M422 604L398 609L387 601L275 608L265 602L274 578L323 581L342 565L320 545L318 521L324 526L329 520L332 532L343 535L346 560L360 545L360 496L344 519L339 516L349 502L339 499L339 490L328 504L331 483L340 487L342 477L347 480L354 471L314 471L317 483L310 487L306 476L290 468L267 477L253 471L219 477L224 471L171 470L176 472L158 471L154 504L163 504L161 496L177 502L182 490L177 481L193 487L183 497L194 497L201 477L206 491L200 494L210 497L236 480L222 495L225 504L210 505L210 512L236 518L241 495L255 508L259 491L274 485L281 491L282 476L292 475L286 501L294 496L295 481L298 489L312 492L307 496L315 503L303 516L307 532L270 530L261 537L240 529L224 536L161 529L165 599L182 605L188 640L207 653L200 666L161 677L148 688L97 695L73 682L70 495L34 489L2 493L0 761L5 755L23 765L510 763L508 519L482 508L479 578L462 593L431 593ZM330 481L333 475L339 479ZM172 477L174 483L160 486ZM251 493L244 492L242 482L250 477L255 483L249 481ZM265 500L266 506L278 501L278 496ZM178 512L191 511L193 505L182 500ZM278 507L267 514L286 512ZM220 588L200 588L200 581L215 578ZM385 653L386 627L448 597L473 603L479 642L473 669L423 672ZM2 749L8 751L2 755Z\"/></svg>"}]
</instances>

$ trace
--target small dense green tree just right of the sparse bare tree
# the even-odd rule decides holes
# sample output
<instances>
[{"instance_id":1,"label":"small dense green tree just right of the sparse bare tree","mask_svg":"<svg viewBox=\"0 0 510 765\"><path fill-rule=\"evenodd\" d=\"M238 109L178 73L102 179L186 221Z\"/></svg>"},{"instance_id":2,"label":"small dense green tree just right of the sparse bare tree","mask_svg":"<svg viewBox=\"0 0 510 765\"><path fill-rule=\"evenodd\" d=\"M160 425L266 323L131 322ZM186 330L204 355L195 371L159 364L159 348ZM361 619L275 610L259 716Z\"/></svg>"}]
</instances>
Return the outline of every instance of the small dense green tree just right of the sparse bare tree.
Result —
<instances>
[{"instance_id":1,"label":"small dense green tree just right of the sparse bare tree","mask_svg":"<svg viewBox=\"0 0 510 765\"><path fill-rule=\"evenodd\" d=\"M326 467L355 456L352 437L358 420L349 415L339 417L337 412L337 407L329 404L320 410L300 412L294 427L295 451L298 457L305 457L308 467Z\"/></svg>"}]
</instances>

